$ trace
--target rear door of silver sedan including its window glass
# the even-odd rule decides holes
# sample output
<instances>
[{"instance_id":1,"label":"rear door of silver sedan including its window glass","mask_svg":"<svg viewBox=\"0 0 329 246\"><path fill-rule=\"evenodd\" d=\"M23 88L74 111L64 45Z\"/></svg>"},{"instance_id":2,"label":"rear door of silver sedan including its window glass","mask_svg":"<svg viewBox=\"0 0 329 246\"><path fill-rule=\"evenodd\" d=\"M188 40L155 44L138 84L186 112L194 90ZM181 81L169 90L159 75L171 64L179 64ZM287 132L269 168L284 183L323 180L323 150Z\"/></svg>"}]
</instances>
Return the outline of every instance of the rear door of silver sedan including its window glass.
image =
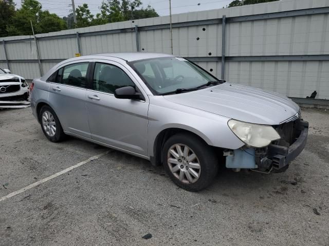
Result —
<instances>
[{"instance_id":1,"label":"rear door of silver sedan including its window glass","mask_svg":"<svg viewBox=\"0 0 329 246\"><path fill-rule=\"evenodd\" d=\"M49 105L56 112L63 130L90 138L85 95L90 63L68 64L49 77Z\"/></svg>"}]
</instances>

